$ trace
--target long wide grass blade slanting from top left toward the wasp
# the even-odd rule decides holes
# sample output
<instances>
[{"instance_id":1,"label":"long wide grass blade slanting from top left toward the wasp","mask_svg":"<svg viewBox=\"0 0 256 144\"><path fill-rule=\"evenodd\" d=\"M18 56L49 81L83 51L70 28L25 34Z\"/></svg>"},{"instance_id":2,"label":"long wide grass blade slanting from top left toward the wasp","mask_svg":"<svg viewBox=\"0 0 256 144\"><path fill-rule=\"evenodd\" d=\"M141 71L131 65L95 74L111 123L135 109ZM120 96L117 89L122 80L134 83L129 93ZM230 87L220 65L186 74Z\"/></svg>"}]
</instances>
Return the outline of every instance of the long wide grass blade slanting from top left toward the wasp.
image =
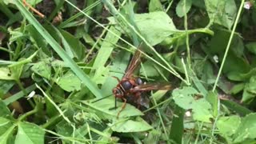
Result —
<instances>
[{"instance_id":1,"label":"long wide grass blade slanting from top left toward the wasp","mask_svg":"<svg viewBox=\"0 0 256 144\"><path fill-rule=\"evenodd\" d=\"M33 17L33 15L26 10L26 7L23 6L22 2L20 1L14 1L15 5L18 7L18 10L22 12L24 17L35 27L36 30L40 34L42 34L42 37L46 39L46 42L50 44L50 46L56 51L56 53L63 59L64 62L66 62L66 65L70 67L71 70L73 70L74 74L78 76L78 78L81 79L83 84L85 84L88 89L97 97L102 98L102 94L100 90L98 90L98 87L94 85L93 82L90 81L90 78L88 75L86 75L79 67L78 65L71 59L66 52L62 49L62 47L54 40L54 38L42 27L42 25Z\"/></svg>"}]
</instances>

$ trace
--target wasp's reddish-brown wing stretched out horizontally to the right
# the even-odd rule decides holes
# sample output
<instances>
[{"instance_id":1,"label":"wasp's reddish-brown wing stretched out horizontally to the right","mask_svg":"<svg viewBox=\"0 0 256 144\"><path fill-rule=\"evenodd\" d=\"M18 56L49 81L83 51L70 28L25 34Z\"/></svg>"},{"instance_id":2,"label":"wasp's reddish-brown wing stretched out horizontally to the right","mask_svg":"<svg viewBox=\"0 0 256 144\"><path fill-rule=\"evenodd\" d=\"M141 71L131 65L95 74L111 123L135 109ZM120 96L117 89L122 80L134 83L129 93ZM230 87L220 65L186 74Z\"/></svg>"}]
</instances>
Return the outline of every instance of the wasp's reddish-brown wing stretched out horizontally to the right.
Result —
<instances>
[{"instance_id":1,"label":"wasp's reddish-brown wing stretched out horizontally to the right","mask_svg":"<svg viewBox=\"0 0 256 144\"><path fill-rule=\"evenodd\" d=\"M150 90L171 90L173 87L170 83L147 83L135 86L130 91L131 92L139 92L139 91L150 91Z\"/></svg>"}]
</instances>

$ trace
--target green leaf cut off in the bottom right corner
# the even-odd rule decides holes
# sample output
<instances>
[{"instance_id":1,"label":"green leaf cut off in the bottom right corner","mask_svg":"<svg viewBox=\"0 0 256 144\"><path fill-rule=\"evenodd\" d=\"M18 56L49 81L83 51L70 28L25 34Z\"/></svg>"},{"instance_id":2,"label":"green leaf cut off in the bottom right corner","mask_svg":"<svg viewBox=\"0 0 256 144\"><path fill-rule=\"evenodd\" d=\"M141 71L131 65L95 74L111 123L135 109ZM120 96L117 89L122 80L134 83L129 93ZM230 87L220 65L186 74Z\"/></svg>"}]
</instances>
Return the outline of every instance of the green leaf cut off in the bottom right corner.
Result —
<instances>
[{"instance_id":1,"label":"green leaf cut off in the bottom right corner","mask_svg":"<svg viewBox=\"0 0 256 144\"><path fill-rule=\"evenodd\" d=\"M233 126L235 126L233 124ZM248 114L245 118L242 118L241 124L236 130L236 134L234 134L234 142L243 142L247 139L256 138L256 114Z\"/></svg>"}]
</instances>

